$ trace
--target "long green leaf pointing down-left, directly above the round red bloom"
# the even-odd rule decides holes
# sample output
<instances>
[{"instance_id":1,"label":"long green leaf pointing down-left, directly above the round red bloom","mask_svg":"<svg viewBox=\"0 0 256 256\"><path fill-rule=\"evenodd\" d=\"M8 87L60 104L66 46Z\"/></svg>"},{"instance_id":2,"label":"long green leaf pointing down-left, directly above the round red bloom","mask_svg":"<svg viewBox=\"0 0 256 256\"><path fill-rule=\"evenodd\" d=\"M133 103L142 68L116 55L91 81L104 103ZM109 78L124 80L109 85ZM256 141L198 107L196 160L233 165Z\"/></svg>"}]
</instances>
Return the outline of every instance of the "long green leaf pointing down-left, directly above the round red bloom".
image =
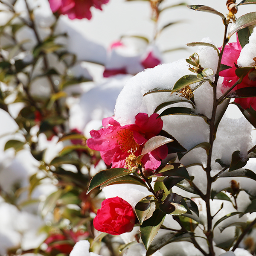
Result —
<instances>
[{"instance_id":1,"label":"long green leaf pointing down-left, directly above the round red bloom","mask_svg":"<svg viewBox=\"0 0 256 256\"><path fill-rule=\"evenodd\" d=\"M117 177L126 176L131 173L133 173L133 172L130 172L128 169L124 169L124 168L113 168L113 169L107 169L107 170L98 172L98 173L96 173L96 175L94 175L91 178L89 187L87 190L87 194L91 190L95 189L96 187L102 186L109 180L112 180Z\"/></svg>"}]
</instances>

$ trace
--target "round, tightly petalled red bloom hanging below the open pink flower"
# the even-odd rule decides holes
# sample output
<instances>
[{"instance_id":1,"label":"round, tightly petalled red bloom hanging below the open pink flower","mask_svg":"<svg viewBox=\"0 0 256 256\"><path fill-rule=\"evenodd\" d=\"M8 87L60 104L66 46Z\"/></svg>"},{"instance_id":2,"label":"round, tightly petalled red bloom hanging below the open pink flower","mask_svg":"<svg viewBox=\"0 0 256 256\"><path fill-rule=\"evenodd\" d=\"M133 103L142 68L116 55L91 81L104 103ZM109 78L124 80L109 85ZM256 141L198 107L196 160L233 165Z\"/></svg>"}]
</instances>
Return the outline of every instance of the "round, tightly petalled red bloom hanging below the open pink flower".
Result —
<instances>
[{"instance_id":1,"label":"round, tightly petalled red bloom hanging below the open pink flower","mask_svg":"<svg viewBox=\"0 0 256 256\"><path fill-rule=\"evenodd\" d=\"M135 214L131 205L122 198L108 198L102 202L93 220L96 230L111 235L130 232L135 224Z\"/></svg>"}]
</instances>

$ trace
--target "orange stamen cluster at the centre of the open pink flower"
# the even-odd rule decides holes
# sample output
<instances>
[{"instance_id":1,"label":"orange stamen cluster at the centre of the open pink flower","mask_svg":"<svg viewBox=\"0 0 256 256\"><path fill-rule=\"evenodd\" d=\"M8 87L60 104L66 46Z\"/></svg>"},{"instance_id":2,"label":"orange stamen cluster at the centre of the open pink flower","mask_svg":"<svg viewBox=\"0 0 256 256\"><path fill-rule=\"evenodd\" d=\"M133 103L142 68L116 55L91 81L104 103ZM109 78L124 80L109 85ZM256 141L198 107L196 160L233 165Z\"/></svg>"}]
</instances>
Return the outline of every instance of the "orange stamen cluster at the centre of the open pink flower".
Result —
<instances>
[{"instance_id":1,"label":"orange stamen cluster at the centre of the open pink flower","mask_svg":"<svg viewBox=\"0 0 256 256\"><path fill-rule=\"evenodd\" d=\"M128 150L134 150L138 148L138 144L135 142L133 137L133 131L121 129L117 132L117 143L120 149L126 153Z\"/></svg>"}]
</instances>

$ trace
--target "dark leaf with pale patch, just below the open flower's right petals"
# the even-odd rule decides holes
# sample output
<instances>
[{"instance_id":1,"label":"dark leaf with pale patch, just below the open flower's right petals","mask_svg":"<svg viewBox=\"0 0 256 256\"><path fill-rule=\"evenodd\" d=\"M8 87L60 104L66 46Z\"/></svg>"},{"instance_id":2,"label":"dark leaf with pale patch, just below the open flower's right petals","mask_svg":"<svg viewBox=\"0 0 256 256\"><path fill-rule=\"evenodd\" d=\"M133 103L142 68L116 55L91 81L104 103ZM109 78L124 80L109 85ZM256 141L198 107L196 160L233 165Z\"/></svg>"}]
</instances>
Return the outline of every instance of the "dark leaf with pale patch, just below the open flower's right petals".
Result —
<instances>
[{"instance_id":1,"label":"dark leaf with pale patch, just below the open flower's right petals","mask_svg":"<svg viewBox=\"0 0 256 256\"><path fill-rule=\"evenodd\" d=\"M177 176L190 180L189 173L186 168L180 163L166 164L159 172L154 176Z\"/></svg>"}]
</instances>

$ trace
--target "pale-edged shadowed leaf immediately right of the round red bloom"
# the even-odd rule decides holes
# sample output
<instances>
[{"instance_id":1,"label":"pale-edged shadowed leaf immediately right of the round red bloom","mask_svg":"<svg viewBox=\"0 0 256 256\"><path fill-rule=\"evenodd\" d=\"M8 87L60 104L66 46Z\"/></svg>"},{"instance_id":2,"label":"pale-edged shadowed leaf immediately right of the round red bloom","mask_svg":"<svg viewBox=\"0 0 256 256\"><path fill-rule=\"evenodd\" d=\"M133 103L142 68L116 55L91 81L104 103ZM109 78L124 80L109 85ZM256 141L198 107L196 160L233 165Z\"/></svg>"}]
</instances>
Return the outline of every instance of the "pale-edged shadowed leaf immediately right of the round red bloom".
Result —
<instances>
[{"instance_id":1,"label":"pale-edged shadowed leaf immediately right of the round red bloom","mask_svg":"<svg viewBox=\"0 0 256 256\"><path fill-rule=\"evenodd\" d=\"M143 221L146 217L151 217L154 210L156 209L154 196L147 196L141 199L135 206L135 213L140 222L140 225L143 224ZM153 211L152 211L153 210ZM149 214L151 212L151 215ZM148 216L149 215L149 216Z\"/></svg>"}]
</instances>

